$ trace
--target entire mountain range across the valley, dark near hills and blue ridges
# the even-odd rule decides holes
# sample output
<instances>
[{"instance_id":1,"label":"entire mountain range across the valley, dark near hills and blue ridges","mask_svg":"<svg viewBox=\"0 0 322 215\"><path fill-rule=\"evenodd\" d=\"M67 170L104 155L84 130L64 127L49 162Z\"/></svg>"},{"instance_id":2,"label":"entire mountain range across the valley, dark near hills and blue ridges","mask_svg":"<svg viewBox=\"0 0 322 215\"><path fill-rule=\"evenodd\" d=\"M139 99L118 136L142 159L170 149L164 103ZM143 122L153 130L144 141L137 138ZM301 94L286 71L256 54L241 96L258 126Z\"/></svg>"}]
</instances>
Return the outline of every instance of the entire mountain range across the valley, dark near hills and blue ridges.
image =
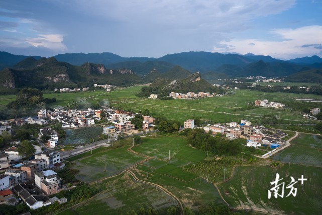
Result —
<instances>
[{"instance_id":1,"label":"entire mountain range across the valley, dark near hills and blue ridges","mask_svg":"<svg viewBox=\"0 0 322 215\"><path fill-rule=\"evenodd\" d=\"M59 54L44 58L0 52L0 86L52 88L85 87L93 83L131 85L153 82L157 78L184 79L196 71L211 83L230 77L287 77L292 74L297 75L290 80L296 81L311 69L315 69L314 77L318 78L316 74L321 68L322 58L316 55L279 60L252 53L182 52L149 58L121 57L104 52ZM322 82L322 77L310 81Z\"/></svg>"}]
</instances>

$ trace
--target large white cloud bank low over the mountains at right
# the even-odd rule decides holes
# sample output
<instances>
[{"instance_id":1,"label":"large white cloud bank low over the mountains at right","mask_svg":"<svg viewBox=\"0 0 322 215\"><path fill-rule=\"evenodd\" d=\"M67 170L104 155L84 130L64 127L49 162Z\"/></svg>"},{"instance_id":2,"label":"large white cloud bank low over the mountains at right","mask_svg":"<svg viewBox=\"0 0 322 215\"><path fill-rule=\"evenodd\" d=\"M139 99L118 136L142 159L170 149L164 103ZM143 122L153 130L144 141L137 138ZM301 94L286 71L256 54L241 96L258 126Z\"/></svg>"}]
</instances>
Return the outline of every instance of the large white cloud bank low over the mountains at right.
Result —
<instances>
[{"instance_id":1,"label":"large white cloud bank low over the mountains at right","mask_svg":"<svg viewBox=\"0 0 322 215\"><path fill-rule=\"evenodd\" d=\"M311 56L320 53L322 44L322 26L305 26L296 29L274 29L270 32L277 35L278 41L259 39L232 39L221 41L213 47L213 52L238 52L270 55L279 59ZM254 44L254 45L253 45Z\"/></svg>"}]
</instances>

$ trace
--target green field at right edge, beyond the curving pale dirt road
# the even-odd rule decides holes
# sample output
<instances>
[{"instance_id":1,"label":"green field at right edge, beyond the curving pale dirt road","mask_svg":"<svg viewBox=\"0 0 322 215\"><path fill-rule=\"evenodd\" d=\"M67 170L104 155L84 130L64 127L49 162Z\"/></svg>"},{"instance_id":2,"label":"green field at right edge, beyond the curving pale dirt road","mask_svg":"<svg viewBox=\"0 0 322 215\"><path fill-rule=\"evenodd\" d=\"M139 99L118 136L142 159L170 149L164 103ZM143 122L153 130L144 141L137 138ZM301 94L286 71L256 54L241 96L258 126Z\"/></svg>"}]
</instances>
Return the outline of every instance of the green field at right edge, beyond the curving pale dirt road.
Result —
<instances>
[{"instance_id":1,"label":"green field at right edge, beyond the curving pale dirt road","mask_svg":"<svg viewBox=\"0 0 322 215\"><path fill-rule=\"evenodd\" d=\"M273 156L284 163L305 164L322 167L322 136L299 133L291 146Z\"/></svg>"}]
</instances>

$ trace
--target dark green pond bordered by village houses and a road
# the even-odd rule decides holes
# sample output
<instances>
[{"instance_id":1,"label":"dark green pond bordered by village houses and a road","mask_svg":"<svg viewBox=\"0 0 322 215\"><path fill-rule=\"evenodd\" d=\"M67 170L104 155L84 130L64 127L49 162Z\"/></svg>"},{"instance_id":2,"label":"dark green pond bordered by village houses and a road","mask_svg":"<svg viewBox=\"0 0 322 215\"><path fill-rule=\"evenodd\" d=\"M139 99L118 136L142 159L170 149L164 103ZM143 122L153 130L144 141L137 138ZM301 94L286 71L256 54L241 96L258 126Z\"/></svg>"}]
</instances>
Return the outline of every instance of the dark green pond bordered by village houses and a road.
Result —
<instances>
[{"instance_id":1,"label":"dark green pond bordered by village houses and a road","mask_svg":"<svg viewBox=\"0 0 322 215\"><path fill-rule=\"evenodd\" d=\"M66 138L63 140L63 144L86 144L92 141L103 132L103 127L82 127L77 129L67 129Z\"/></svg>"}]
</instances>

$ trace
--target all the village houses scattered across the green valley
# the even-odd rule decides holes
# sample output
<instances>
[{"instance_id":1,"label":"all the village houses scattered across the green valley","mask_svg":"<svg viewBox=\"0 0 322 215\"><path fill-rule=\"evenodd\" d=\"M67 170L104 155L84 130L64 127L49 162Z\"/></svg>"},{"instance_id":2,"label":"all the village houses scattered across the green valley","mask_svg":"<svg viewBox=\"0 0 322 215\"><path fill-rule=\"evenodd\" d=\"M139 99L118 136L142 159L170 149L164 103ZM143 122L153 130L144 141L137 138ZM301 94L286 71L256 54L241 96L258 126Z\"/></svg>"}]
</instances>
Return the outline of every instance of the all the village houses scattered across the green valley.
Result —
<instances>
[{"instance_id":1,"label":"all the village houses scattered across the green valley","mask_svg":"<svg viewBox=\"0 0 322 215\"><path fill-rule=\"evenodd\" d=\"M182 95L177 95L174 92L171 92L170 95L176 98L181 96L182 98ZM188 98L195 95L200 97L213 96L206 93L187 94ZM283 104L268 103L267 100L256 100L255 105L274 108L284 107ZM317 114L319 109L314 108L311 112L312 114ZM66 163L61 159L60 151L57 150L59 145L58 132L50 128L50 123L54 121L60 122L62 129L102 126L102 133L108 136L106 142L110 142L111 140L117 140L121 134L133 135L139 132L135 124L131 122L135 116L136 114L125 110L112 110L110 108L99 110L91 108L83 110L56 108L54 111L40 109L38 115L34 117L1 121L0 123L3 126L0 127L0 134L3 132L13 134L12 123L17 125L39 124L44 126L39 129L40 136L45 135L49 138L47 142L43 142L44 148L35 146L37 152L29 159L24 159L19 155L17 150L20 144L19 140L12 140L10 142L11 147L1 152L0 170L3 171L3 174L0 175L0 202L16 205L23 201L32 209L50 205L57 201L59 203L66 202L66 198L48 197L59 193L61 190L68 189L65 185L61 184L61 178L55 172L64 168ZM108 125L95 125L95 121L99 121L102 117L107 120ZM142 118L140 130L153 130L156 119L151 116L142 116ZM246 139L247 147L261 149L265 155L277 148L282 148L285 145L283 138L287 136L287 133L281 130L266 128L258 124L252 125L246 119L242 119L240 122L208 123L201 126L196 126L194 119L187 119L179 130L196 128L203 129L204 132L211 133L212 135L225 136L230 140L244 138ZM40 137L38 137L39 141ZM14 196L19 196L19 198Z\"/></svg>"}]
</instances>

